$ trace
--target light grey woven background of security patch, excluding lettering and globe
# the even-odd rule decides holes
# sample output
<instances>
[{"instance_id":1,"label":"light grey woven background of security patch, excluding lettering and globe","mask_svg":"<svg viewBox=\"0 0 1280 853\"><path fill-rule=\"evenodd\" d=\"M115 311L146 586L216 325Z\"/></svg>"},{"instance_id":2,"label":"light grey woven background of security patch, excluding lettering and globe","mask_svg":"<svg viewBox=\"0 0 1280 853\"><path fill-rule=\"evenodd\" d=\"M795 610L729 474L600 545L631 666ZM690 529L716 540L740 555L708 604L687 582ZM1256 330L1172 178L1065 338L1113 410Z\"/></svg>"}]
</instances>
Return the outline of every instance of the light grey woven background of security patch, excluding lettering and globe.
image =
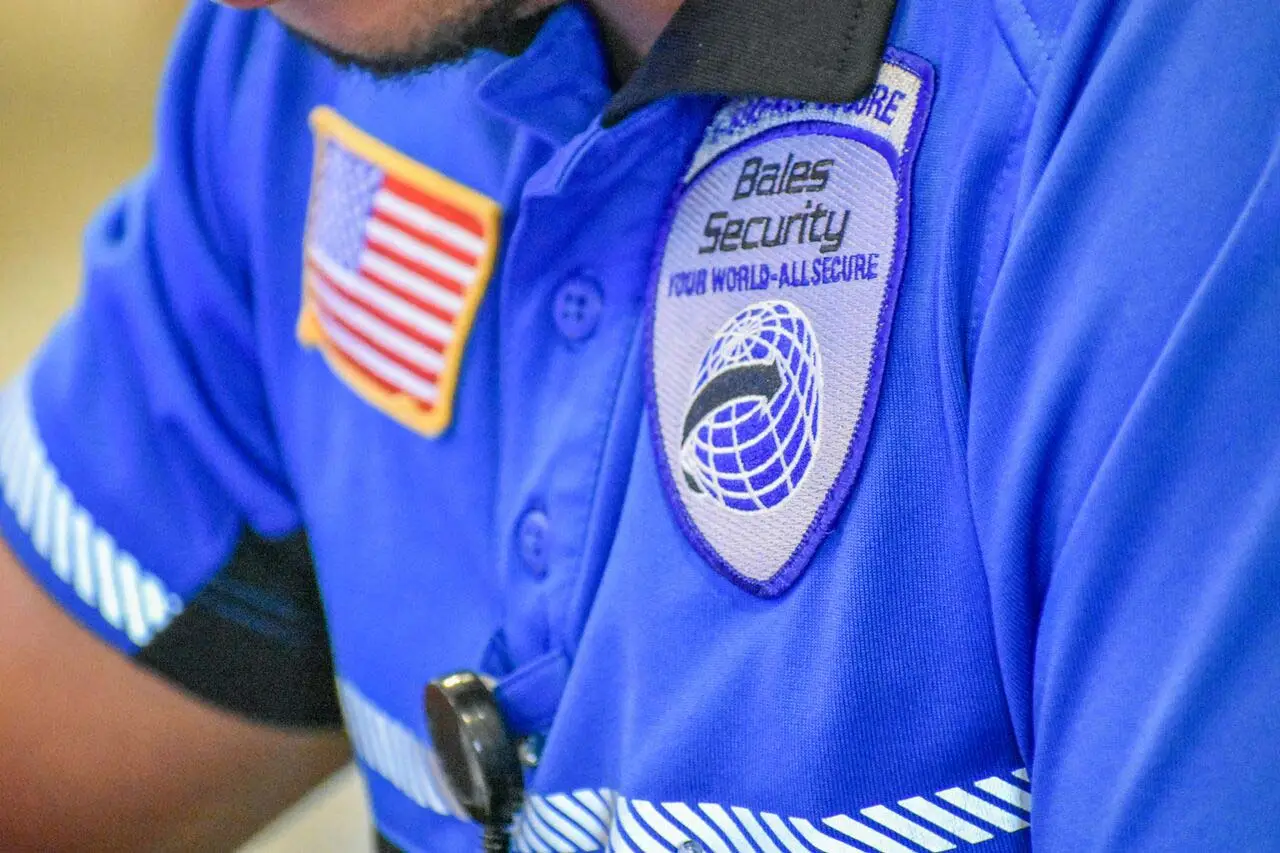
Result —
<instances>
[{"instance_id":1,"label":"light grey woven background of security patch, excluding lettering and globe","mask_svg":"<svg viewBox=\"0 0 1280 853\"><path fill-rule=\"evenodd\" d=\"M895 73L893 83L905 91L893 127L878 133L890 147L902 154L908 129L915 114L919 81L901 68L886 65ZM667 240L655 287L653 341L654 387L662 450L675 488L692 524L712 548L739 574L767 581L787 564L818 515L823 501L844 469L854 433L863 414L863 403L877 345L877 330L886 289L892 280L896 261L895 245L899 229L897 178L886 159L870 146L846 136L837 136L841 124L868 127L864 117L849 122L833 119L832 113L792 114L785 124L822 118L831 122L832 133L820 131L792 136L769 136L751 142L753 136L782 127L783 123L763 122L754 132L739 134L730 149L721 142L710 156L699 154L696 163L707 164L714 154L730 152L695 175L692 188L680 202ZM856 120L855 120L856 119ZM837 124L838 122L838 124ZM899 128L901 126L901 129ZM817 193L781 193L751 196L733 201L732 196L744 163L762 158L764 163L833 159L826 191ZM699 254L710 242L704 234L708 216L727 210L731 218L780 216L804 209L806 201L823 207L851 210L845 243L837 252L822 254L818 243L795 243L750 251ZM838 222L840 216L837 216ZM878 254L878 275L872 280L850 280L810 287L712 292L708 282L701 296L673 296L668 284L672 273L737 264L768 264L777 270L791 261L849 254ZM823 400L820 451L800 487L781 505L756 512L730 510L704 494L692 492L685 483L680 466L680 444L689 393L703 353L723 323L753 302L781 298L799 305L813 321L823 355ZM815 532L820 534L820 532Z\"/></svg>"}]
</instances>

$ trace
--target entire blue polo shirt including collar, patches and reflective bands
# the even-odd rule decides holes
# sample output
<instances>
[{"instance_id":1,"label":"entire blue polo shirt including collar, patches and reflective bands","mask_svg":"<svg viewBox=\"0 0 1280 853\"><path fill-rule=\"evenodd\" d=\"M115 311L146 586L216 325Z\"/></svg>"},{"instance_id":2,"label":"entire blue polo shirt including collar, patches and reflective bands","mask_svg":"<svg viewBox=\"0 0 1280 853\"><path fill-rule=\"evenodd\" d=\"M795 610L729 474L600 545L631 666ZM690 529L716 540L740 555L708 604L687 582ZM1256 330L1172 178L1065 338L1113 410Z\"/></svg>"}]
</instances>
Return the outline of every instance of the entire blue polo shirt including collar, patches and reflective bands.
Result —
<instances>
[{"instance_id":1,"label":"entire blue polo shirt including collar, patches and reflective bands","mask_svg":"<svg viewBox=\"0 0 1280 853\"><path fill-rule=\"evenodd\" d=\"M742 5L614 92L573 4L378 82L197 3L5 539L404 850L456 670L517 850L1275 849L1280 12Z\"/></svg>"}]
</instances>

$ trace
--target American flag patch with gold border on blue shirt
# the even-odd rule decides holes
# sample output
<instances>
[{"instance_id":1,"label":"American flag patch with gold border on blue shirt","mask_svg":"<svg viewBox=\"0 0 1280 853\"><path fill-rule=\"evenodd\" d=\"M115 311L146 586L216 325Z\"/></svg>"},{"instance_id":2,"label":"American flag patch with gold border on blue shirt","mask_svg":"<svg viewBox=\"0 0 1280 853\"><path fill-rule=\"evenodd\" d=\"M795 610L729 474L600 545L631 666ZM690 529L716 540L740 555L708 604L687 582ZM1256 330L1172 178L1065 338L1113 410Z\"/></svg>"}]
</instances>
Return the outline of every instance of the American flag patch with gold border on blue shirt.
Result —
<instances>
[{"instance_id":1,"label":"American flag patch with gold border on blue shirt","mask_svg":"<svg viewBox=\"0 0 1280 853\"><path fill-rule=\"evenodd\" d=\"M311 127L298 339L372 406L439 435L493 273L500 209L332 109L316 109Z\"/></svg>"}]
</instances>

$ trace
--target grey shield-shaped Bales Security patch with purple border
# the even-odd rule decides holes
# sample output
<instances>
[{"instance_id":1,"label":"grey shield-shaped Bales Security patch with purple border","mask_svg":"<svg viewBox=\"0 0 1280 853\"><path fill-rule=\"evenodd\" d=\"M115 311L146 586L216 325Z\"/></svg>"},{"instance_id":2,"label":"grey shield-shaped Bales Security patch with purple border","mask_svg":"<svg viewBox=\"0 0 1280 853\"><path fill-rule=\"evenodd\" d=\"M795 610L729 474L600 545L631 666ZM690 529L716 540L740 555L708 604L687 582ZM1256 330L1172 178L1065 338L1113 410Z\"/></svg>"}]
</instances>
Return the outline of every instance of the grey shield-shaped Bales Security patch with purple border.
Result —
<instances>
[{"instance_id":1,"label":"grey shield-shaped Bales Security patch with purple border","mask_svg":"<svg viewBox=\"0 0 1280 853\"><path fill-rule=\"evenodd\" d=\"M655 452L690 542L755 594L795 583L858 474L932 93L891 49L858 102L730 104L677 190L650 292Z\"/></svg>"}]
</instances>

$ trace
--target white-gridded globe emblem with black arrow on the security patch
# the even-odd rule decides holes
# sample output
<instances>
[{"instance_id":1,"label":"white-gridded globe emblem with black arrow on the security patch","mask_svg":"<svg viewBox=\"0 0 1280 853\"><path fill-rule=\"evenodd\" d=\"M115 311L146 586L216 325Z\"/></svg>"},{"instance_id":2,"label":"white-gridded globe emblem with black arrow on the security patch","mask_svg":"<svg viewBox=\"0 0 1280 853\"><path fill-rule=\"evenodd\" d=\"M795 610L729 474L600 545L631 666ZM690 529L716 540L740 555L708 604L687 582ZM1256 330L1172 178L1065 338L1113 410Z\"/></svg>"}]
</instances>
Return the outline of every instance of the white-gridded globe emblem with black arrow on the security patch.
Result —
<instances>
[{"instance_id":1,"label":"white-gridded globe emblem with black arrow on the security patch","mask_svg":"<svg viewBox=\"0 0 1280 853\"><path fill-rule=\"evenodd\" d=\"M755 302L716 333L689 394L685 483L730 510L786 501L818 452L822 356L796 305Z\"/></svg>"}]
</instances>

